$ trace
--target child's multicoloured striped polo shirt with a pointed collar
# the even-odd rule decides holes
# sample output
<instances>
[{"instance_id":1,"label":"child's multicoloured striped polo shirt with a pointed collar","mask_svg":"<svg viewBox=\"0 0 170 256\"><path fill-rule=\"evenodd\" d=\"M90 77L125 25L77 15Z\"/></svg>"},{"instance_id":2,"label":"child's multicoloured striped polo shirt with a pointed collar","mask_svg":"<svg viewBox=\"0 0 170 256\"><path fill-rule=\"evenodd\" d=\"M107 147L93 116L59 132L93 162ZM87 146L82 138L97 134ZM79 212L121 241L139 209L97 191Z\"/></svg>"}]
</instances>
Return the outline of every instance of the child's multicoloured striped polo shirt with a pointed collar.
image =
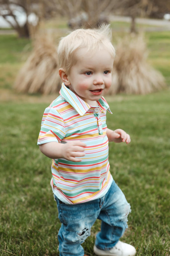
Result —
<instances>
[{"instance_id":1,"label":"child's multicoloured striped polo shirt with a pointed collar","mask_svg":"<svg viewBox=\"0 0 170 256\"><path fill-rule=\"evenodd\" d=\"M91 106L64 84L60 95L43 114L38 145L80 140L87 146L81 162L52 160L53 193L66 204L87 202L104 196L113 178L108 162L106 111L112 113L101 97Z\"/></svg>"}]
</instances>

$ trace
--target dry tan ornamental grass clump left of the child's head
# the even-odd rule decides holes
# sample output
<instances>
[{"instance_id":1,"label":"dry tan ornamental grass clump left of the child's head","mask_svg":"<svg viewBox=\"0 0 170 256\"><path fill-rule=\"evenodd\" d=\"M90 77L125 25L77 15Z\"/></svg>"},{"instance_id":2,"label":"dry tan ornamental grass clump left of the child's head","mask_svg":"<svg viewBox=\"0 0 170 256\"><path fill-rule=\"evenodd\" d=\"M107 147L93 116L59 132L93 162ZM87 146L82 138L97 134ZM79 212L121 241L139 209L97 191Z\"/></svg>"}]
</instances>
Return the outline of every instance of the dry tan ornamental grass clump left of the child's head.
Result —
<instances>
[{"instance_id":1,"label":"dry tan ornamental grass clump left of the child's head","mask_svg":"<svg viewBox=\"0 0 170 256\"><path fill-rule=\"evenodd\" d=\"M33 52L19 71L14 88L22 93L50 94L58 92L61 80L58 75L57 51L49 35L39 35Z\"/></svg>"}]
</instances>

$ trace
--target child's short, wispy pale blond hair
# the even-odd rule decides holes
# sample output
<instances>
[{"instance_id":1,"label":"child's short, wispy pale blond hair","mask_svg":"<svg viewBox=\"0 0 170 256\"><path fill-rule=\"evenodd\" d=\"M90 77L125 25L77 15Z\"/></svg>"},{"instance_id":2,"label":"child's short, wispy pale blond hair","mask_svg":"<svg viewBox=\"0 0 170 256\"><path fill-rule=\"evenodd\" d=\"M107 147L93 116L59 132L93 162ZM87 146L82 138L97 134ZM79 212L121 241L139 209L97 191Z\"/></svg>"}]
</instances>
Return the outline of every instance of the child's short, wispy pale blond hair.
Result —
<instances>
[{"instance_id":1,"label":"child's short, wispy pale blond hair","mask_svg":"<svg viewBox=\"0 0 170 256\"><path fill-rule=\"evenodd\" d=\"M62 37L58 45L59 68L69 73L71 66L76 63L75 52L86 48L94 52L96 49L107 50L115 58L115 48L111 43L110 25L102 25L98 29L76 29Z\"/></svg>"}]
</instances>

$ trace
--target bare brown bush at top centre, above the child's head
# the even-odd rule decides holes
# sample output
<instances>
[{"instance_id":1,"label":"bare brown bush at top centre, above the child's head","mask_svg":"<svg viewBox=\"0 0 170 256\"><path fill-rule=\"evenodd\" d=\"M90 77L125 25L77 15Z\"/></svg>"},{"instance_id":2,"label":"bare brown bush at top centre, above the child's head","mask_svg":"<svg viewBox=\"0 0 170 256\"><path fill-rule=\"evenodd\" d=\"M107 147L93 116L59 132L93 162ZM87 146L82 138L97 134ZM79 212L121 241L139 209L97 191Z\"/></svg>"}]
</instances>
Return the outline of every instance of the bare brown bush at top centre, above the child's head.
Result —
<instances>
[{"instance_id":1,"label":"bare brown bush at top centre, above the child's head","mask_svg":"<svg viewBox=\"0 0 170 256\"><path fill-rule=\"evenodd\" d=\"M68 18L68 25L74 27L96 27L100 22L108 22L109 14L122 9L127 0L44 0L44 5L53 15ZM50 7L49 7L50 6Z\"/></svg>"}]
</instances>

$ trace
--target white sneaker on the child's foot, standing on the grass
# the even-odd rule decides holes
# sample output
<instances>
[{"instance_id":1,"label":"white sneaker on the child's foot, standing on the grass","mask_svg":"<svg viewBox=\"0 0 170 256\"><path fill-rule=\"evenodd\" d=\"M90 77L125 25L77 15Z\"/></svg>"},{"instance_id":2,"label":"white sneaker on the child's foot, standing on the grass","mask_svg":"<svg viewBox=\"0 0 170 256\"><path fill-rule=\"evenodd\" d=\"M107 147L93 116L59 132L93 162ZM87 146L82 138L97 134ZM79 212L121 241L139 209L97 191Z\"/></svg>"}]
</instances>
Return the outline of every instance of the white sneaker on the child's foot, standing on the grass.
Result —
<instances>
[{"instance_id":1,"label":"white sneaker on the child's foot, standing on the grass","mask_svg":"<svg viewBox=\"0 0 170 256\"><path fill-rule=\"evenodd\" d=\"M103 251L98 249L95 245L93 247L94 253L103 256L134 256L136 249L130 244L118 241L118 243L109 251Z\"/></svg>"}]
</instances>

